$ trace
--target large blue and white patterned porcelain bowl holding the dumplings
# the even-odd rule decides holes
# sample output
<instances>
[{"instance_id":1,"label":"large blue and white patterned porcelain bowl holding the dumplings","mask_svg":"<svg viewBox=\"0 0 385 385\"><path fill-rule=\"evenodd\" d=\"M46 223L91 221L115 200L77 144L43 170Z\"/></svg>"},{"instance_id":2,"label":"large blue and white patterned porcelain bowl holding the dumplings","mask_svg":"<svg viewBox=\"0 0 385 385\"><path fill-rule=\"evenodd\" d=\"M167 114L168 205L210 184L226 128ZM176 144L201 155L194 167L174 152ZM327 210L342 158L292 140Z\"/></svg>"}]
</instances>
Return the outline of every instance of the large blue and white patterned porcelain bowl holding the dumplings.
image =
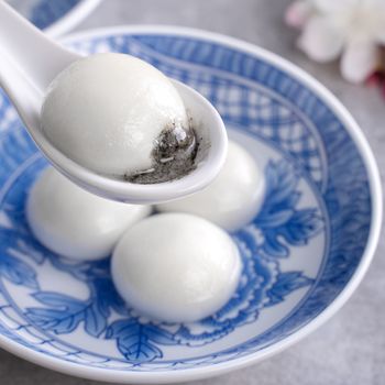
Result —
<instances>
[{"instance_id":1,"label":"large blue and white patterned porcelain bowl holding the dumplings","mask_svg":"<svg viewBox=\"0 0 385 385\"><path fill-rule=\"evenodd\" d=\"M124 306L109 260L74 263L32 237L25 198L47 165L0 97L0 345L72 375L122 383L202 378L256 363L346 301L380 234L371 150L346 110L286 61L229 37L136 26L74 35L86 53L136 55L208 97L263 166L262 211L232 234L237 294L200 322L152 322Z\"/></svg>"}]
</instances>

